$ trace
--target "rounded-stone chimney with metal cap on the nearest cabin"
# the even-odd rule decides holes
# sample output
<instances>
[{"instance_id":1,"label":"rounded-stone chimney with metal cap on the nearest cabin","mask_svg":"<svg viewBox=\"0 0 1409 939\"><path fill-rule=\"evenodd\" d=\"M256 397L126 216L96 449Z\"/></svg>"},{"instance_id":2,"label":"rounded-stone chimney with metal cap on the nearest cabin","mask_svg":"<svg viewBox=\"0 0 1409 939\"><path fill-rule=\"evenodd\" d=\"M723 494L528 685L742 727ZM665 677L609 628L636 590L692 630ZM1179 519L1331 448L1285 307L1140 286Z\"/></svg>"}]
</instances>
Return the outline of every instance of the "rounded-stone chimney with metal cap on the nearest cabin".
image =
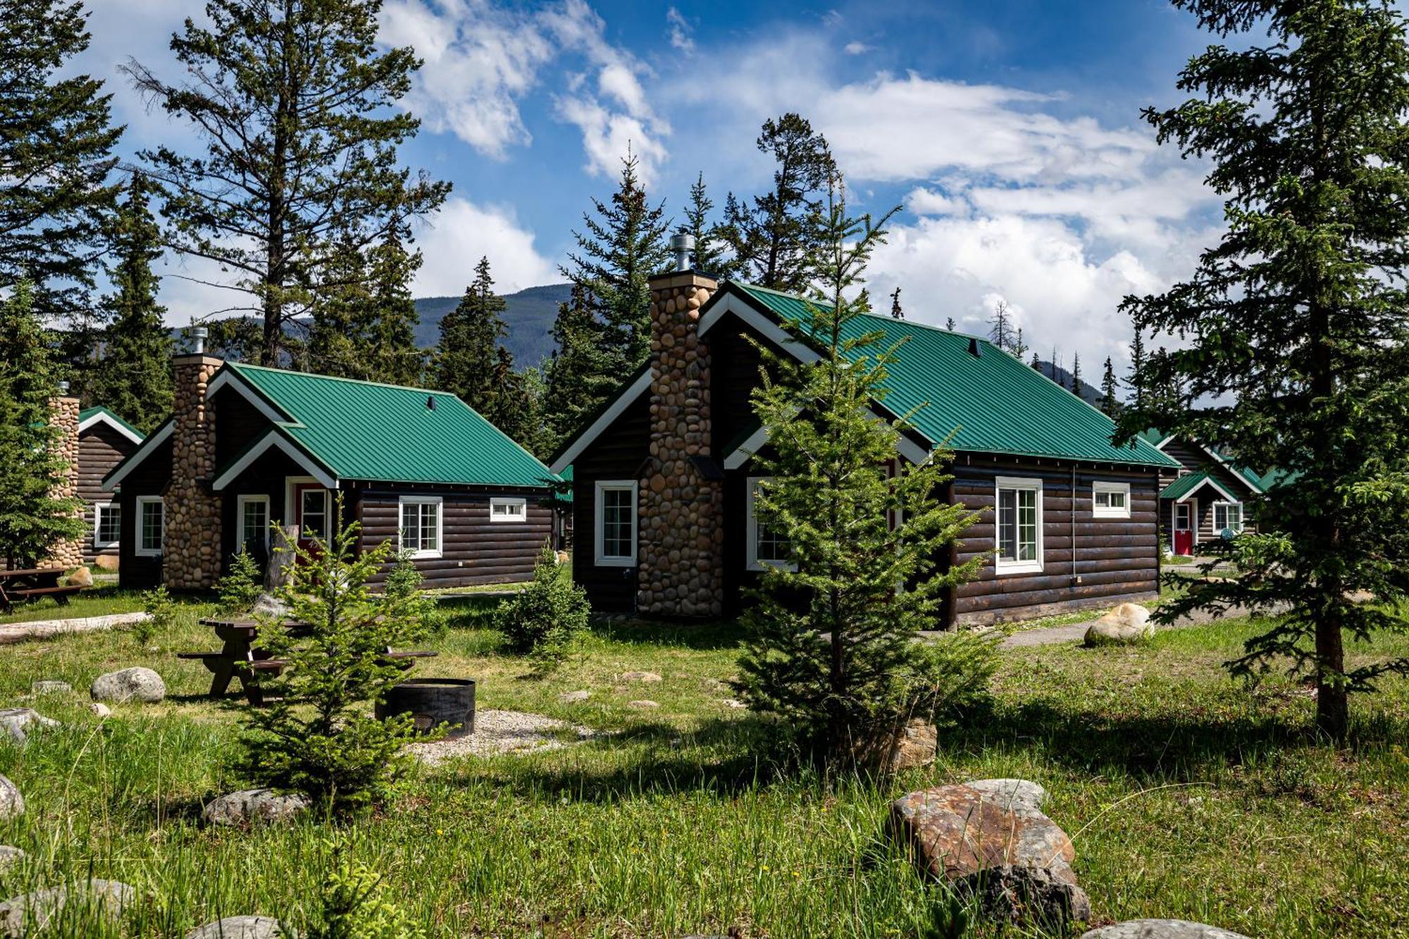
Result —
<instances>
[{"instance_id":1,"label":"rounded-stone chimney with metal cap on the nearest cabin","mask_svg":"<svg viewBox=\"0 0 1409 939\"><path fill-rule=\"evenodd\" d=\"M651 278L651 462L638 502L637 609L719 616L724 482L710 454L709 344L699 336L700 307L719 282L689 271L688 245L676 248L681 269Z\"/></svg>"}]
</instances>

